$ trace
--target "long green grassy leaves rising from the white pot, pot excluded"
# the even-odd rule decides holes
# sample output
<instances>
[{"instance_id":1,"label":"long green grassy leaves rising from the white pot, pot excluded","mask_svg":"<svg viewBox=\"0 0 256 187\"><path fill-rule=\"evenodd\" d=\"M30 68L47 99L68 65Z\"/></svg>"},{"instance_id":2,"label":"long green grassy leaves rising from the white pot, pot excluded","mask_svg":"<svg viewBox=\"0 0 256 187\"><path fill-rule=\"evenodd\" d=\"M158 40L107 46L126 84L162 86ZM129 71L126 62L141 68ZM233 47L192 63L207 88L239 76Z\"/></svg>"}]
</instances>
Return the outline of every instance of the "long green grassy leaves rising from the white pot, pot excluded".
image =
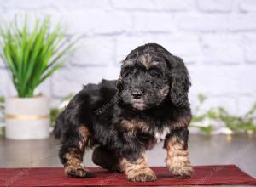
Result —
<instances>
[{"instance_id":1,"label":"long green grassy leaves rising from the white pot, pot excluded","mask_svg":"<svg viewBox=\"0 0 256 187\"><path fill-rule=\"evenodd\" d=\"M21 28L17 19L0 27L0 56L20 98L32 97L35 88L61 68L77 42L66 36L60 23L50 27L49 16L33 24L31 29L26 16Z\"/></svg>"}]
</instances>

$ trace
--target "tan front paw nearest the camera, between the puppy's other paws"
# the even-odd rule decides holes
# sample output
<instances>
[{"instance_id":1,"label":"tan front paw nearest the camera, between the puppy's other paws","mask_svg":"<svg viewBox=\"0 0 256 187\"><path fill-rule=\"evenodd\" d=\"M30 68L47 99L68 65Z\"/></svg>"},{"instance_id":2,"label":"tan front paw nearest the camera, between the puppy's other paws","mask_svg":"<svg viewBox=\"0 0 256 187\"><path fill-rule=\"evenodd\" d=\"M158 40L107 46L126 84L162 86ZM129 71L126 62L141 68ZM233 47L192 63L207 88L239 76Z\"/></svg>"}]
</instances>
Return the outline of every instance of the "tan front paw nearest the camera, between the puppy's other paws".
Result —
<instances>
[{"instance_id":1,"label":"tan front paw nearest the camera, between the puppy's other paws","mask_svg":"<svg viewBox=\"0 0 256 187\"><path fill-rule=\"evenodd\" d=\"M131 171L128 173L127 178L132 182L153 182L156 180L156 176L150 168L142 171Z\"/></svg>"}]
</instances>

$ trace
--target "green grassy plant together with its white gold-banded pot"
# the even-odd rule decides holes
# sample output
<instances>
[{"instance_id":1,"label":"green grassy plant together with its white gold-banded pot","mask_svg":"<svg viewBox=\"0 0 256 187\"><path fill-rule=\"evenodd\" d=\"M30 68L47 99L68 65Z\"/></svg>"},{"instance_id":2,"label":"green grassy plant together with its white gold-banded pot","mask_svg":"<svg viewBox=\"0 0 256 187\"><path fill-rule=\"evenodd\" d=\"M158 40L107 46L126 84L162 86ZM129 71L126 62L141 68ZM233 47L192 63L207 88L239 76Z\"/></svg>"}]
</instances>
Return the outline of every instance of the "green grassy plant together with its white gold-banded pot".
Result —
<instances>
[{"instance_id":1,"label":"green grassy plant together with its white gold-banded pot","mask_svg":"<svg viewBox=\"0 0 256 187\"><path fill-rule=\"evenodd\" d=\"M21 27L16 19L0 27L0 55L17 91L5 103L9 139L49 137L49 98L34 91L61 68L76 42L66 36L61 24L51 27L49 16L36 19L32 27L27 20L26 16Z\"/></svg>"}]
</instances>

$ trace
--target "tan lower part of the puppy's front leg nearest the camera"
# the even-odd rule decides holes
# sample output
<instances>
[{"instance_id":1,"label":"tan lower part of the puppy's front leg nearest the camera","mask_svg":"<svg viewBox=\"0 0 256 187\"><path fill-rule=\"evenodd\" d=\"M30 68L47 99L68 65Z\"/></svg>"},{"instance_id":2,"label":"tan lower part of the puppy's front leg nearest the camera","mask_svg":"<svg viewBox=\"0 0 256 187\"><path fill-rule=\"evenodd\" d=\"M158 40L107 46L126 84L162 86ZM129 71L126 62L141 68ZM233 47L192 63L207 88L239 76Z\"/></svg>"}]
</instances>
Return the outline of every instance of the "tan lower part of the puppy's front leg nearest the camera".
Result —
<instances>
[{"instance_id":1,"label":"tan lower part of the puppy's front leg nearest the camera","mask_svg":"<svg viewBox=\"0 0 256 187\"><path fill-rule=\"evenodd\" d=\"M156 180L154 172L148 167L147 157L144 154L136 161L128 161L123 158L120 165L130 181L148 182Z\"/></svg>"}]
</instances>

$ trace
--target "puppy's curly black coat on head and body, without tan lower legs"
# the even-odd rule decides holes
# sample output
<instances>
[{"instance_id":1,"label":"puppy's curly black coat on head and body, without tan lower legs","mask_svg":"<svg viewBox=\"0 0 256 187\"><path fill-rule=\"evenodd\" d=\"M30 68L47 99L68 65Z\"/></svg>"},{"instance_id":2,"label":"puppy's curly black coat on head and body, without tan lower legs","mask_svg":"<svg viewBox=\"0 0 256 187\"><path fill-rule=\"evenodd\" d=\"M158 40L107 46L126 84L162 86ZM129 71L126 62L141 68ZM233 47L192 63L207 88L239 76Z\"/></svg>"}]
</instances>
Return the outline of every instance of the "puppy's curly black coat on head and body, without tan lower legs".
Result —
<instances>
[{"instance_id":1,"label":"puppy's curly black coat on head and body, without tan lower legs","mask_svg":"<svg viewBox=\"0 0 256 187\"><path fill-rule=\"evenodd\" d=\"M189 86L183 60L165 48L149 43L132 50L122 62L117 81L84 86L56 119L54 133L61 138L61 162L67 162L64 155L70 149L79 147L82 126L90 132L86 147L99 145L116 159L137 160L165 129L166 137L186 129L178 140L187 146Z\"/></svg>"}]
</instances>

